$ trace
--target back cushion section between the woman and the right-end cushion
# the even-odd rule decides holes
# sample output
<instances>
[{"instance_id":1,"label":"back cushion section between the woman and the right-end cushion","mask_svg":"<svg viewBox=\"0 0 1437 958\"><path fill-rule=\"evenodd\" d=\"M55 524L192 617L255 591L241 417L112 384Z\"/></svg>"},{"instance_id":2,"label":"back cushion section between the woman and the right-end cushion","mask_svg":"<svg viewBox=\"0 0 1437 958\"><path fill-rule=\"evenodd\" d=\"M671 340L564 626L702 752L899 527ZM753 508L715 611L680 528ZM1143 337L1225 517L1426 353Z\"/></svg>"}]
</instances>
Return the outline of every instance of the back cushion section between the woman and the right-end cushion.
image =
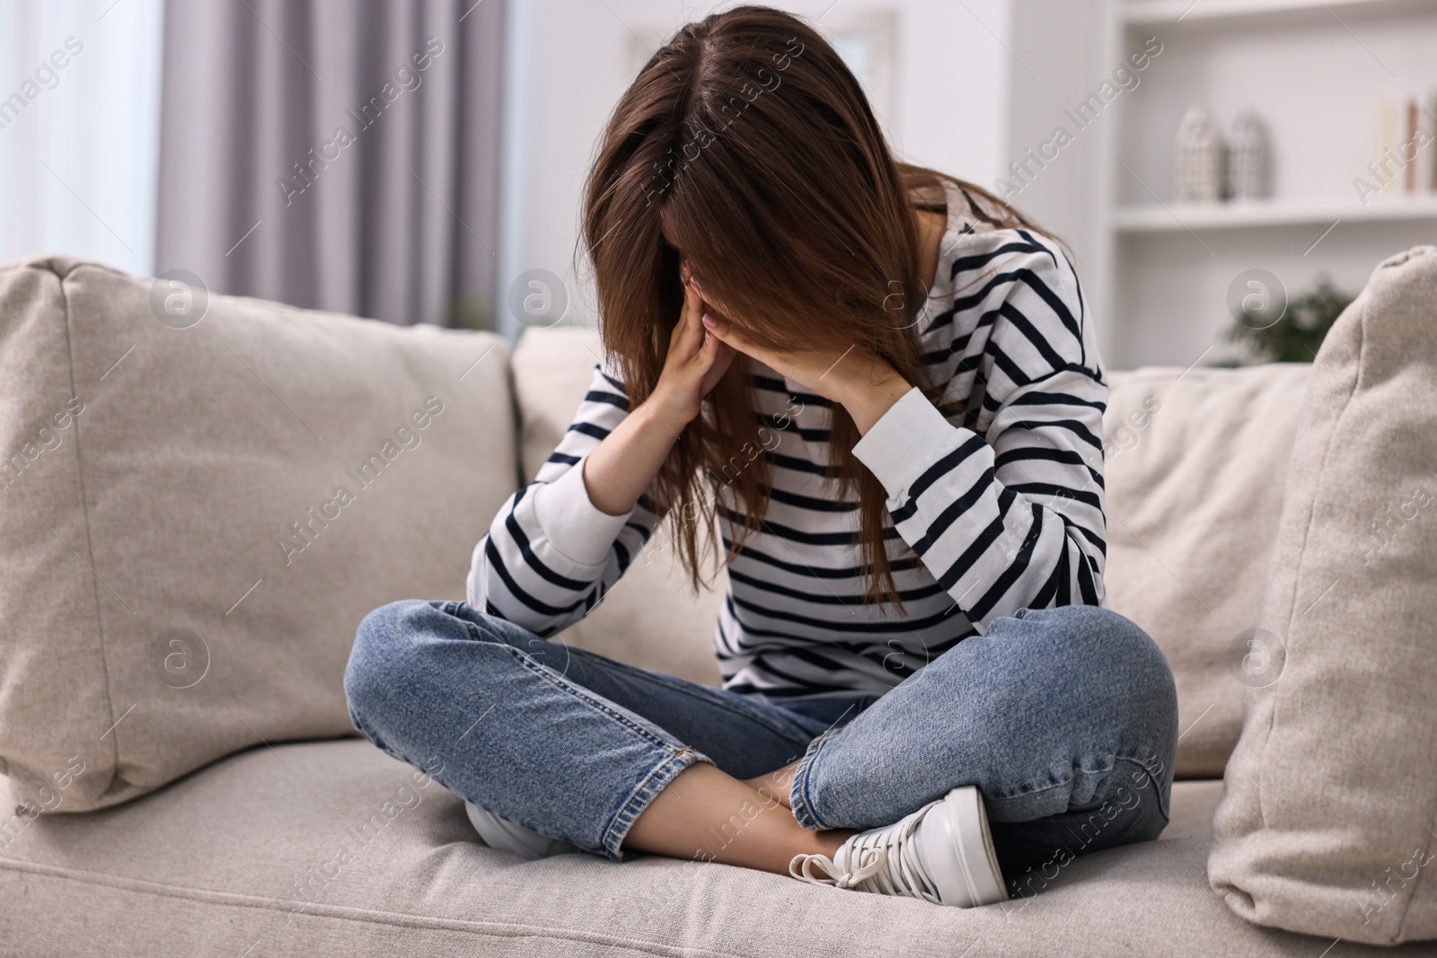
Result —
<instances>
[{"instance_id":1,"label":"back cushion section between the woman and the right-end cushion","mask_svg":"<svg viewBox=\"0 0 1437 958\"><path fill-rule=\"evenodd\" d=\"M1305 363L1111 375L1104 605L1173 666L1180 778L1221 777L1242 731L1230 655L1257 622L1309 376Z\"/></svg>"}]
</instances>

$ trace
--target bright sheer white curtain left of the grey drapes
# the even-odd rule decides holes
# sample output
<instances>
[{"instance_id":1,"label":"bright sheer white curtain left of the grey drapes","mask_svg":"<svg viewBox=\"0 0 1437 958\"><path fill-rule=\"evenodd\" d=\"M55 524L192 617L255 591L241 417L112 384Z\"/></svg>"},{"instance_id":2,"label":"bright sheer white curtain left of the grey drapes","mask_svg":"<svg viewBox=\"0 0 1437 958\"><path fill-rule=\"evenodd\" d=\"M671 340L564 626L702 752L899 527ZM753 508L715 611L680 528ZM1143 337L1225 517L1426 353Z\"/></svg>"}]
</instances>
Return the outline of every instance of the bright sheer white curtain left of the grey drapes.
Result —
<instances>
[{"instance_id":1,"label":"bright sheer white curtain left of the grey drapes","mask_svg":"<svg viewBox=\"0 0 1437 958\"><path fill-rule=\"evenodd\" d=\"M0 3L0 108L20 96L0 112L0 260L154 271L162 13L162 0Z\"/></svg>"}]
</instances>

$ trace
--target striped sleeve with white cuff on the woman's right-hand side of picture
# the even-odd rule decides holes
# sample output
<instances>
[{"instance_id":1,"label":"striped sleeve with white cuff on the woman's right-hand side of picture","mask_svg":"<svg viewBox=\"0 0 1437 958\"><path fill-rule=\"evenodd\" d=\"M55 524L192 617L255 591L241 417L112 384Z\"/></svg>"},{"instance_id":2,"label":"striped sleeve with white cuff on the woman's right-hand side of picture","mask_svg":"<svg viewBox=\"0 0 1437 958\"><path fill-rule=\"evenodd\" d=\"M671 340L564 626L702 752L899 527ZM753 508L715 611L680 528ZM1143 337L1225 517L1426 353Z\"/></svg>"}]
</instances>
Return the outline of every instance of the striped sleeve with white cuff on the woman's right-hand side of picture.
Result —
<instances>
[{"instance_id":1,"label":"striped sleeve with white cuff on the woman's right-hand side of picture","mask_svg":"<svg viewBox=\"0 0 1437 958\"><path fill-rule=\"evenodd\" d=\"M1020 608L1098 605L1106 554L1108 386L1078 277L1046 238L993 236L967 257L977 292L925 342L954 375L976 371L974 428L914 388L854 447L888 491L898 534L980 633ZM976 323L957 315L969 309Z\"/></svg>"}]
</instances>

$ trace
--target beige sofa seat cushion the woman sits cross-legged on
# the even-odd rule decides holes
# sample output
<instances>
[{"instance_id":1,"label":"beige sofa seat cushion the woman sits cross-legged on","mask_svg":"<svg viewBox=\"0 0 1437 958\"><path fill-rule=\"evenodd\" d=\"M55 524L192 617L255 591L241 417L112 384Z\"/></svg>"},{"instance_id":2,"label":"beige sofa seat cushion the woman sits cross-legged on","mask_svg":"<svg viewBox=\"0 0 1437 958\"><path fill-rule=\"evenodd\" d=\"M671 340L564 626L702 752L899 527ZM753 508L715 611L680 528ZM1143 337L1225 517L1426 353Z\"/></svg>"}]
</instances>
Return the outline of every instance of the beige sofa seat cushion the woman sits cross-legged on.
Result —
<instances>
[{"instance_id":1,"label":"beige sofa seat cushion the woman sits cross-legged on","mask_svg":"<svg viewBox=\"0 0 1437 958\"><path fill-rule=\"evenodd\" d=\"M0 941L34 958L1321 954L1331 939L1249 925L1209 890L1220 789L1178 783L1158 842L960 911L657 856L520 862L474 839L457 796L365 741L259 745L13 832ZM1341 954L1361 951L1418 954Z\"/></svg>"}]
</instances>

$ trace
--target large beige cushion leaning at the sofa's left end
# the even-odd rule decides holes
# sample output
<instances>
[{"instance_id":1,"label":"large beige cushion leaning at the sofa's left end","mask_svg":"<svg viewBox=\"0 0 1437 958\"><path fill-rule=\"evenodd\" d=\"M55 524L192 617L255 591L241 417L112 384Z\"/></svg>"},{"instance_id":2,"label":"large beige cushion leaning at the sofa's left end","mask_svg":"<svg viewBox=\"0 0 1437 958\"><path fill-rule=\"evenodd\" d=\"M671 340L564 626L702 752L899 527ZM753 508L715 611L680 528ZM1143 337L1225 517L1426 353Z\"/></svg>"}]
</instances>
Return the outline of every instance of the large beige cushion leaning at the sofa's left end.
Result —
<instances>
[{"instance_id":1,"label":"large beige cushion leaning at the sofa's left end","mask_svg":"<svg viewBox=\"0 0 1437 958\"><path fill-rule=\"evenodd\" d=\"M0 771L32 810L354 734L359 619L463 597L517 475L497 338L65 257L0 266Z\"/></svg>"}]
</instances>

